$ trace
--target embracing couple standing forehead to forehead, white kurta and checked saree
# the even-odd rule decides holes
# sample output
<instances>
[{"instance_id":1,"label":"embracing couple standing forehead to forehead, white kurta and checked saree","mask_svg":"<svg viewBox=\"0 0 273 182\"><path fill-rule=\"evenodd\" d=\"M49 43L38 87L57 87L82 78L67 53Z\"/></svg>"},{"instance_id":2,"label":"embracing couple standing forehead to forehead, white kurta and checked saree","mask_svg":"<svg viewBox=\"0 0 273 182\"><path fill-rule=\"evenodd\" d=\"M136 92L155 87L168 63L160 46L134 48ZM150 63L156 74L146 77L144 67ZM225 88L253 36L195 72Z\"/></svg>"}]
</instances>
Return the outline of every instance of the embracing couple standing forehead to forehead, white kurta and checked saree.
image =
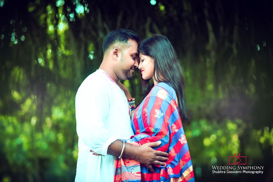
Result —
<instances>
[{"instance_id":1,"label":"embracing couple standing forehead to forehead, white kurta and checked saree","mask_svg":"<svg viewBox=\"0 0 273 182\"><path fill-rule=\"evenodd\" d=\"M75 181L194 181L182 126L189 119L184 81L169 40L153 35L138 45L135 32L119 29L102 48L100 68L76 95ZM137 68L146 97L130 119L128 90L118 81L131 79Z\"/></svg>"}]
</instances>

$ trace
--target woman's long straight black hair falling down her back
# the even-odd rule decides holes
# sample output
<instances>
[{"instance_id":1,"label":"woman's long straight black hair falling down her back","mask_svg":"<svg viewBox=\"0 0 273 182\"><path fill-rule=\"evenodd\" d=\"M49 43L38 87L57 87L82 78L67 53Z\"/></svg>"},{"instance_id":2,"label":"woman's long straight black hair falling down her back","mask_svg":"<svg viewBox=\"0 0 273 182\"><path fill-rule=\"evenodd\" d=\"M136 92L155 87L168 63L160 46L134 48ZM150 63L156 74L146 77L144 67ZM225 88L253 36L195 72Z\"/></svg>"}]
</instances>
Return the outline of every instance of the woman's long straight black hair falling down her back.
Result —
<instances>
[{"instance_id":1,"label":"woman's long straight black hair falling down her back","mask_svg":"<svg viewBox=\"0 0 273 182\"><path fill-rule=\"evenodd\" d=\"M187 108L182 67L179 64L177 54L169 39L163 35L152 35L140 42L138 45L138 52L154 59L155 80L157 82L169 82L172 88L176 91L178 110L182 121L189 120L191 116ZM155 77L155 73L157 78ZM154 83L151 83L150 79L142 79L142 89L145 92L145 96L148 95L153 86Z\"/></svg>"}]
</instances>

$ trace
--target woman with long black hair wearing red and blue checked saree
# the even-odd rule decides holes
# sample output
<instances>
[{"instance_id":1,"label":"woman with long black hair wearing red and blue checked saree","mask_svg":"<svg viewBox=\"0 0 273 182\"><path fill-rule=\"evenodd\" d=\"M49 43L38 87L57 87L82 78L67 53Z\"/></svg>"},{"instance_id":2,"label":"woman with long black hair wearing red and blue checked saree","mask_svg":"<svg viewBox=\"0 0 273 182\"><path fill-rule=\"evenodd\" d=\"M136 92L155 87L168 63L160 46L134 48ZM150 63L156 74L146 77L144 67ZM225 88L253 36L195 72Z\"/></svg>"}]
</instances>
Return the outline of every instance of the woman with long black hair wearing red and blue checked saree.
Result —
<instances>
[{"instance_id":1,"label":"woman with long black hair wearing red and blue checked saree","mask_svg":"<svg viewBox=\"0 0 273 182\"><path fill-rule=\"evenodd\" d=\"M190 118L184 80L175 50L163 35L152 35L138 45L146 97L135 109L131 126L135 133L127 143L142 145L161 141L155 150L169 153L166 166L146 166L131 159L117 159L114 181L194 181L193 166L182 121ZM150 80L153 83L150 83ZM141 172L141 174L140 174Z\"/></svg>"}]
</instances>

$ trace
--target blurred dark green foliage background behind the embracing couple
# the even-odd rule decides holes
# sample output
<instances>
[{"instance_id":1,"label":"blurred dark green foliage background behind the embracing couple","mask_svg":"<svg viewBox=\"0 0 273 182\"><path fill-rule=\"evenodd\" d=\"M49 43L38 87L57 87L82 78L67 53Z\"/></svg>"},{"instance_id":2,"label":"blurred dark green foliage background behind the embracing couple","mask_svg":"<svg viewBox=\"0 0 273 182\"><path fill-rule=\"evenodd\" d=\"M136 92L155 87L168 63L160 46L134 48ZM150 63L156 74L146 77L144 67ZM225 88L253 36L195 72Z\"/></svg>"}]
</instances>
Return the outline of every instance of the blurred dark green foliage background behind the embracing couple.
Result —
<instances>
[{"instance_id":1,"label":"blurred dark green foliage background behind the embracing couple","mask_svg":"<svg viewBox=\"0 0 273 182\"><path fill-rule=\"evenodd\" d=\"M74 181L75 95L113 29L174 45L196 181L272 181L271 1L0 0L0 181ZM124 82L142 101L139 75ZM94 85L94 89L96 86ZM264 174L212 174L234 153Z\"/></svg>"}]
</instances>

